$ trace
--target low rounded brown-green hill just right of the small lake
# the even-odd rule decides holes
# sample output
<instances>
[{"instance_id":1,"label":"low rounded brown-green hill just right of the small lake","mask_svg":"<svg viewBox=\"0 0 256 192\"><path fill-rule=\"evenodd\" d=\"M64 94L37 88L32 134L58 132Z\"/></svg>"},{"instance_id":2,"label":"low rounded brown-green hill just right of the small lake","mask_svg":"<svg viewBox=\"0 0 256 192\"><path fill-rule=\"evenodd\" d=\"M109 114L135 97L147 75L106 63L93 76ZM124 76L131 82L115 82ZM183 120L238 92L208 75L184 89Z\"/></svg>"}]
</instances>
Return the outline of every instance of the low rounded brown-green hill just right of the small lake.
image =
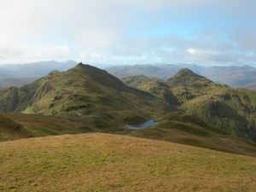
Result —
<instances>
[{"instance_id":1,"label":"low rounded brown-green hill just right of the small lake","mask_svg":"<svg viewBox=\"0 0 256 192\"><path fill-rule=\"evenodd\" d=\"M127 135L256 156L255 144L232 137L217 126L188 113L167 113L156 125L145 130L130 131Z\"/></svg>"}]
</instances>

